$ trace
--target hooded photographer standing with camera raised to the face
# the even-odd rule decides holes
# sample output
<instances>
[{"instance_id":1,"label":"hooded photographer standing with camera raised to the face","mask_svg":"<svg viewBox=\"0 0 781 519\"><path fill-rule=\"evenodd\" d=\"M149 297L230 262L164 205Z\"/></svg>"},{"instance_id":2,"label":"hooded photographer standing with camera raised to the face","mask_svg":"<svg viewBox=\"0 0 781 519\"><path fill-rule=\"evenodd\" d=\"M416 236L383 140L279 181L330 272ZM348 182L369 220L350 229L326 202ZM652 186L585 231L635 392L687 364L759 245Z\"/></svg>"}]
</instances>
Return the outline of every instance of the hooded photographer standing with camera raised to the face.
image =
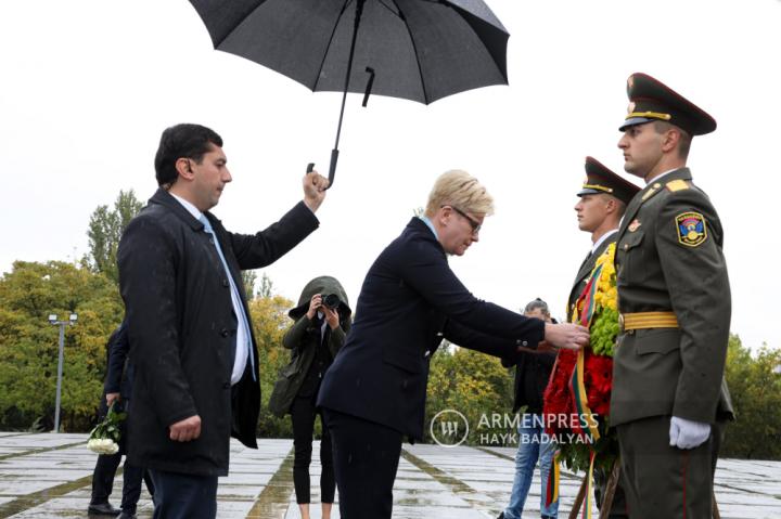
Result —
<instances>
[{"instance_id":1,"label":"hooded photographer standing with camera raised to the face","mask_svg":"<svg viewBox=\"0 0 781 519\"><path fill-rule=\"evenodd\" d=\"M290 364L282 368L269 401L277 416L290 413L293 419L293 482L302 518L309 519L309 464L311 463L315 418L322 413L316 406L320 382L333 363L350 327L353 311L347 295L336 278L320 276L307 283L298 306L287 315L295 323L285 333L282 345L292 351ZM331 517L336 483L334 480L331 437L322 426L320 441L320 502L322 517Z\"/></svg>"}]
</instances>

